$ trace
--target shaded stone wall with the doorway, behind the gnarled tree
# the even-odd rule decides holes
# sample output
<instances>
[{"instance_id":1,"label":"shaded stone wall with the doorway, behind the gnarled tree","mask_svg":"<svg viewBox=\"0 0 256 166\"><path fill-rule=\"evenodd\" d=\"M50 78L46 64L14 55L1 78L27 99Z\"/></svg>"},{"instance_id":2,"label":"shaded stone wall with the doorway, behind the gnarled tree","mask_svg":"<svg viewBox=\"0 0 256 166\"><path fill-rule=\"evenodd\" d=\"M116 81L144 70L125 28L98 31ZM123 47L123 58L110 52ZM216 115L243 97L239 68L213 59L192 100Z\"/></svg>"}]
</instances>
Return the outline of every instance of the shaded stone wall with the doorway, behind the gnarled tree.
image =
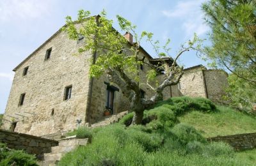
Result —
<instances>
[{"instance_id":1,"label":"shaded stone wall with the doorway, behind the gnarled tree","mask_svg":"<svg viewBox=\"0 0 256 166\"><path fill-rule=\"evenodd\" d=\"M145 55L143 52L139 54L140 58L142 59L145 56L145 63L150 63L148 61L148 56ZM143 65L143 70L138 68L139 70L139 77L140 77L140 88L145 91L145 98L151 98L154 95L154 91L148 87L145 82L147 81L147 71L150 70L150 67L147 65ZM136 75L130 75L131 78L136 77ZM157 76L157 80L161 82L164 79L164 75ZM107 83L111 83L106 75L102 75L100 78L93 79L93 86L92 86L92 102L90 107L90 123L95 123L100 119L104 118L104 110L106 108L106 100L107 100ZM124 112L130 109L129 100L124 96L122 93L122 89L118 87L116 84L113 84L119 89L119 91L115 91L114 94L114 110L113 114L118 114L119 112ZM173 91L175 87L173 87ZM166 87L163 91L163 98L164 100L170 98L170 87Z\"/></svg>"}]
</instances>

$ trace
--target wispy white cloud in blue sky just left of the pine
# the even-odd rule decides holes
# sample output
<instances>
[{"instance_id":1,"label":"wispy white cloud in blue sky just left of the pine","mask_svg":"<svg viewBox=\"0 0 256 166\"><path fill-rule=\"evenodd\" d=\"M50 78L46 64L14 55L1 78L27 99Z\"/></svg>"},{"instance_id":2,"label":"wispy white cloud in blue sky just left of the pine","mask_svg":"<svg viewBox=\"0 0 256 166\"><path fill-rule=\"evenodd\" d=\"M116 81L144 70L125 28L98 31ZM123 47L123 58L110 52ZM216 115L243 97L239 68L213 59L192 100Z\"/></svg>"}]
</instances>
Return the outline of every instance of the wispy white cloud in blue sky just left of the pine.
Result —
<instances>
[{"instance_id":1,"label":"wispy white cloud in blue sky just left of the pine","mask_svg":"<svg viewBox=\"0 0 256 166\"><path fill-rule=\"evenodd\" d=\"M182 20L182 29L186 32L185 38L191 38L194 33L198 36L209 31L204 24L204 14L200 8L206 0L179 1L171 10L163 10L166 17Z\"/></svg>"}]
</instances>

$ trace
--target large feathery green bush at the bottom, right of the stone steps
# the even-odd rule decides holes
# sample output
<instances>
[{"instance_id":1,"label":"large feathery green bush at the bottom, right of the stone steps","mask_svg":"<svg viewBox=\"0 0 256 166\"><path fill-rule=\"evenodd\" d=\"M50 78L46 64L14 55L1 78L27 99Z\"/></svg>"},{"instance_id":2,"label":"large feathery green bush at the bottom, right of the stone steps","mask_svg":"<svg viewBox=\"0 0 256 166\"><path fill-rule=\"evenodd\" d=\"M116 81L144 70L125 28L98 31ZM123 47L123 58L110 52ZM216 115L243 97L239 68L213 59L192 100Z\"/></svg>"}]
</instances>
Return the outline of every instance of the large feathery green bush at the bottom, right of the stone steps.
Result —
<instances>
[{"instance_id":1,"label":"large feathery green bush at the bottom, right of the stone steps","mask_svg":"<svg viewBox=\"0 0 256 166\"><path fill-rule=\"evenodd\" d=\"M92 144L67 153L58 165L143 165L145 151L138 142L124 126L106 126L94 135Z\"/></svg>"}]
</instances>

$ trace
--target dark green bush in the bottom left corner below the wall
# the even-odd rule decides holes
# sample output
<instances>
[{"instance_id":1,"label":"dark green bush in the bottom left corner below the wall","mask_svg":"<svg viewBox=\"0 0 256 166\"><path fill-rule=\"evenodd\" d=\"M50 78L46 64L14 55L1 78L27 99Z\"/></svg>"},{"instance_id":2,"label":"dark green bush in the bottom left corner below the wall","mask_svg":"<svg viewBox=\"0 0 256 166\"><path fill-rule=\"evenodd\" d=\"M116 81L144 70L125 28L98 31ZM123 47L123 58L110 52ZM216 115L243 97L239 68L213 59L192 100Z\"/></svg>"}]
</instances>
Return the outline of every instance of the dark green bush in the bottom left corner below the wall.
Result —
<instances>
[{"instance_id":1,"label":"dark green bush in the bottom left corner below the wall","mask_svg":"<svg viewBox=\"0 0 256 166\"><path fill-rule=\"evenodd\" d=\"M7 149L5 144L0 143L0 165L37 165L35 155L29 155L21 150Z\"/></svg>"}]
</instances>

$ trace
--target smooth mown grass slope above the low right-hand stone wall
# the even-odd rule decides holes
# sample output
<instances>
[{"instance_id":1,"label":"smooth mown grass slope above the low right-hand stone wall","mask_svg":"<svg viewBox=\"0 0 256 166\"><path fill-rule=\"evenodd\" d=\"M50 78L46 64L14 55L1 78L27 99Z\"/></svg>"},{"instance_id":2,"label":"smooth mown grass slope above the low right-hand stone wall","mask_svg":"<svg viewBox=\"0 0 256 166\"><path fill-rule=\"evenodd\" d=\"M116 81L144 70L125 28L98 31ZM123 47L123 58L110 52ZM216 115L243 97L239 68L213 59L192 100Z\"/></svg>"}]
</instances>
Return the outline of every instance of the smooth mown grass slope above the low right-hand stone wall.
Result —
<instances>
[{"instance_id":1,"label":"smooth mown grass slope above the low right-hand stone wall","mask_svg":"<svg viewBox=\"0 0 256 166\"><path fill-rule=\"evenodd\" d=\"M179 121L200 131L204 137L256 132L256 119L228 107L218 107L218 112L205 114L193 110L179 117Z\"/></svg>"}]
</instances>

